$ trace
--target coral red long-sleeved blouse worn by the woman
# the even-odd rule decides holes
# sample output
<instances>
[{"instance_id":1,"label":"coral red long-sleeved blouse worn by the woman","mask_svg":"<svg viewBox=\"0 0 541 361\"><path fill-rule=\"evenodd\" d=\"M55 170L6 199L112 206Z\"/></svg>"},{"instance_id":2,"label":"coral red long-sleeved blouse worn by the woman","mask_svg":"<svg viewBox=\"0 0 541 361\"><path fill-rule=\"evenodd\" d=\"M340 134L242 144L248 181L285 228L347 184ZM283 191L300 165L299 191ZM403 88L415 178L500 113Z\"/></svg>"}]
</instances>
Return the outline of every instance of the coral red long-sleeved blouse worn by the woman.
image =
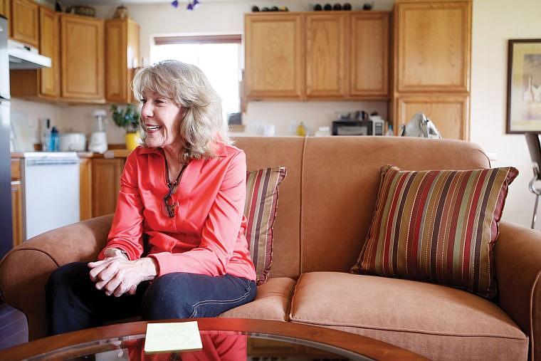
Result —
<instances>
[{"instance_id":1,"label":"coral red long-sleeved blouse worn by the woman","mask_svg":"<svg viewBox=\"0 0 541 361\"><path fill-rule=\"evenodd\" d=\"M216 154L189 162L172 194L178 206L170 218L164 206L169 193L165 157L161 150L137 147L126 159L105 248L120 248L131 260L148 251L159 265L158 276L228 273L255 280L244 236L246 155L222 144ZM147 248L143 234L148 237Z\"/></svg>"}]
</instances>

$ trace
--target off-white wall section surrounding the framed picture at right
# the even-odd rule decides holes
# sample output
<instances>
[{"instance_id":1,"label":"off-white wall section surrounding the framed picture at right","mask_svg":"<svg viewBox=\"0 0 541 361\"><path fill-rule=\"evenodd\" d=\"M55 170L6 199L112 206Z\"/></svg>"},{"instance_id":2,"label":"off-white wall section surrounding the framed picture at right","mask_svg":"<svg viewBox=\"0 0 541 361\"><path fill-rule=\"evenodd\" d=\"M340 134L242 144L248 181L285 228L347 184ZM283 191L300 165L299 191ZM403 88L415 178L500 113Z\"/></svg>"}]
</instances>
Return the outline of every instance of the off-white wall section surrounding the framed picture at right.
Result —
<instances>
[{"instance_id":1,"label":"off-white wall section surrounding the framed picture at right","mask_svg":"<svg viewBox=\"0 0 541 361\"><path fill-rule=\"evenodd\" d=\"M507 52L508 39L541 38L539 14L539 0L473 0L471 141L498 155L494 167L519 169L503 217L525 226L530 226L534 205L527 190L532 167L524 135L505 134Z\"/></svg>"}]
</instances>

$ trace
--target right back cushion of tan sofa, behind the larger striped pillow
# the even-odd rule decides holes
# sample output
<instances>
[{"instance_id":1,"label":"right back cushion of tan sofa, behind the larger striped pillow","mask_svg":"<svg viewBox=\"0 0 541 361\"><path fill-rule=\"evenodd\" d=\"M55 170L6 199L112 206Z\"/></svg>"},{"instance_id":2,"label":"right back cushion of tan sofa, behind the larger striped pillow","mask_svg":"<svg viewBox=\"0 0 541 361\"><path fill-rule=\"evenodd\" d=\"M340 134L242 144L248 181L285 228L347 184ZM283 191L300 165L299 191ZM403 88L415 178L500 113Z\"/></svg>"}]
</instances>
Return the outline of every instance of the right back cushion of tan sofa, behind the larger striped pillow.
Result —
<instances>
[{"instance_id":1,"label":"right back cushion of tan sofa, behind the larger striped pillow","mask_svg":"<svg viewBox=\"0 0 541 361\"><path fill-rule=\"evenodd\" d=\"M411 170L490 166L474 143L417 137L308 137L304 154L300 229L303 272L347 272L357 261L376 207L380 169L385 164ZM281 196L280 210L288 202Z\"/></svg>"}]
</instances>

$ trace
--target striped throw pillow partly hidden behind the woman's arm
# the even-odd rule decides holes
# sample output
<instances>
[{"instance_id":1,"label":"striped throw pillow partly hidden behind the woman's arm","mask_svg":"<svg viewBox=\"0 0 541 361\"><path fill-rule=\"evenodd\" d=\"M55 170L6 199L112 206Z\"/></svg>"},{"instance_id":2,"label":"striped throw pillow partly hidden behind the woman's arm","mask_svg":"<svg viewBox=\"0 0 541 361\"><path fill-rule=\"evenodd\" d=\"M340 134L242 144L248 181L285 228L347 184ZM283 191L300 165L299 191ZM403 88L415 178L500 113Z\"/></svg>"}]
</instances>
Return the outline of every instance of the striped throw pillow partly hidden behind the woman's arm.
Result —
<instances>
[{"instance_id":1,"label":"striped throw pillow partly hidden behind the woman's arm","mask_svg":"<svg viewBox=\"0 0 541 361\"><path fill-rule=\"evenodd\" d=\"M246 172L246 239L256 266L257 284L267 281L273 256L273 224L278 204L278 186L285 177L285 167Z\"/></svg>"}]
</instances>

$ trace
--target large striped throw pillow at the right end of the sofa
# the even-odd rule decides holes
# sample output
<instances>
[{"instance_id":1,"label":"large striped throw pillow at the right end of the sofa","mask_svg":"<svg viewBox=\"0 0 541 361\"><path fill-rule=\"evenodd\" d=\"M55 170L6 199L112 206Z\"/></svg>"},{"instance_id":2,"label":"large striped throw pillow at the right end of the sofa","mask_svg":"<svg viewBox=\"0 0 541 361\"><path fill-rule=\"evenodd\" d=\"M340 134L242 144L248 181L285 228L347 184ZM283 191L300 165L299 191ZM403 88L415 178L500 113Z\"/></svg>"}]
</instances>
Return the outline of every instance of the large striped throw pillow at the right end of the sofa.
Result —
<instances>
[{"instance_id":1,"label":"large striped throw pillow at the right end of the sofa","mask_svg":"<svg viewBox=\"0 0 541 361\"><path fill-rule=\"evenodd\" d=\"M372 224L352 273L496 294L493 247L513 167L404 171L382 167Z\"/></svg>"}]
</instances>

